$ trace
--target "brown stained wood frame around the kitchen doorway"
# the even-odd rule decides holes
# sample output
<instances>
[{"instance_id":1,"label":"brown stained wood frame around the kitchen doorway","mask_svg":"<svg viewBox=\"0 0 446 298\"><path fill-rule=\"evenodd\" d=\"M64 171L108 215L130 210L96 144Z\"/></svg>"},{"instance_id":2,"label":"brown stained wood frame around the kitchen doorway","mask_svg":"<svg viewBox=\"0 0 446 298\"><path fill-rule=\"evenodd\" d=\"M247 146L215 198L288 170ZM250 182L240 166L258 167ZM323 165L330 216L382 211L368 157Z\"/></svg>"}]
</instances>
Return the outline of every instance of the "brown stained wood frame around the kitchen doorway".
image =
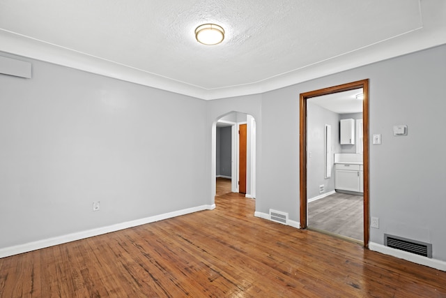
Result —
<instances>
[{"instance_id":1,"label":"brown stained wood frame around the kitchen doorway","mask_svg":"<svg viewBox=\"0 0 446 298\"><path fill-rule=\"evenodd\" d=\"M364 167L364 247L369 247L369 79L300 94L300 228L307 228L307 99L362 88Z\"/></svg>"}]
</instances>

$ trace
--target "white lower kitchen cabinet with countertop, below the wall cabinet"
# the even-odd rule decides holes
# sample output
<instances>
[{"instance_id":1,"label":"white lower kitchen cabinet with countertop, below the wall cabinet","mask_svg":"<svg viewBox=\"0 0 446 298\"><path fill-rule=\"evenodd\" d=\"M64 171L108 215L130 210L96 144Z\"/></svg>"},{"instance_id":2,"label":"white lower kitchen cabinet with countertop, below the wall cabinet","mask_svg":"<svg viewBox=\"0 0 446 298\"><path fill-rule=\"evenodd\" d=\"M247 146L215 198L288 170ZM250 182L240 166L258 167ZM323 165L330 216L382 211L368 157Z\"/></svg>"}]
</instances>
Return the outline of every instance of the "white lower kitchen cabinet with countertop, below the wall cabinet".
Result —
<instances>
[{"instance_id":1,"label":"white lower kitchen cabinet with countertop, below the wall cabinet","mask_svg":"<svg viewBox=\"0 0 446 298\"><path fill-rule=\"evenodd\" d=\"M364 192L362 165L337 163L334 173L334 188L341 191Z\"/></svg>"}]
</instances>

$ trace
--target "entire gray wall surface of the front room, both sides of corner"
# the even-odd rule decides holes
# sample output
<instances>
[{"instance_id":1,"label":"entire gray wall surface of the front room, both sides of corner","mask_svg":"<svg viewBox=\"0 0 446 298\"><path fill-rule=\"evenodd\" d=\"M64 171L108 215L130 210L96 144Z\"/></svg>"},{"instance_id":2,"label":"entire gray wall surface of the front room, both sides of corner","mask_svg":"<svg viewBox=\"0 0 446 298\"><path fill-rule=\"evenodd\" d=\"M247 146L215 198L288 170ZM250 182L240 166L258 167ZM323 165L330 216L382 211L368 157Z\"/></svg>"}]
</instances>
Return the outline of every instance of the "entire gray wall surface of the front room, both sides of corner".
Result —
<instances>
[{"instance_id":1,"label":"entire gray wall surface of the front room, both sides of corner","mask_svg":"<svg viewBox=\"0 0 446 298\"><path fill-rule=\"evenodd\" d=\"M256 211L299 221L299 94L369 78L371 241L428 241L446 260L446 45L208 102L32 63L31 80L0 77L0 248L212 204L213 125L231 111L256 120Z\"/></svg>"}]
</instances>

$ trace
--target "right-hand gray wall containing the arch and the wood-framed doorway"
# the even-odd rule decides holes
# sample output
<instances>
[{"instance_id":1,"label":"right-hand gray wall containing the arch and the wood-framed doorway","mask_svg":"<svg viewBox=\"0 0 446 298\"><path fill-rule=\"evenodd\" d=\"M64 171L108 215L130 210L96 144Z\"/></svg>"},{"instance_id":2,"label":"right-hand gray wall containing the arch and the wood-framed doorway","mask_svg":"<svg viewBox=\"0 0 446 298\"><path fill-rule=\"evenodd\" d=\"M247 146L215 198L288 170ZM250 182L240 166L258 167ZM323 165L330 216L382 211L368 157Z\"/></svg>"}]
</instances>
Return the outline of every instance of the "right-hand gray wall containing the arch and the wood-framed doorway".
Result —
<instances>
[{"instance_id":1,"label":"right-hand gray wall containing the arch and the wood-framed doorway","mask_svg":"<svg viewBox=\"0 0 446 298\"><path fill-rule=\"evenodd\" d=\"M369 152L370 212L380 218L380 228L370 231L371 241L383 244L385 232L428 241L433 258L446 260L446 200L438 187L446 181L445 66L443 45L265 94L212 100L208 139L219 115L231 110L252 114L257 124L256 211L286 211L299 221L299 94L369 78L369 143L374 133L383 137L383 144L371 145ZM392 135L397 124L408 125L407 136Z\"/></svg>"}]
</instances>

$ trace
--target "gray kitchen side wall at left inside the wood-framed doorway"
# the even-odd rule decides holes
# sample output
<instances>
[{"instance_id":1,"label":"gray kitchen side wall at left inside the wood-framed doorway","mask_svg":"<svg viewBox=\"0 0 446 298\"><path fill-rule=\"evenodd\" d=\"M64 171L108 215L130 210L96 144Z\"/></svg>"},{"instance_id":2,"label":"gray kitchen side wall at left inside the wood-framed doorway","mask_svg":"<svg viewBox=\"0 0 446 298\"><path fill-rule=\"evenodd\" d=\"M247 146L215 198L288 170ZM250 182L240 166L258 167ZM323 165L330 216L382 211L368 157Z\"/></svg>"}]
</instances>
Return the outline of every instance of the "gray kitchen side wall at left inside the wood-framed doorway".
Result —
<instances>
[{"instance_id":1,"label":"gray kitchen side wall at left inside the wood-framed doorway","mask_svg":"<svg viewBox=\"0 0 446 298\"><path fill-rule=\"evenodd\" d=\"M332 153L339 153L339 117L340 115L312 103L307 102L307 198L321 195L319 186L323 185L325 192L334 191L334 165L332 158L332 177L325 178L325 124L332 127Z\"/></svg>"}]
</instances>

